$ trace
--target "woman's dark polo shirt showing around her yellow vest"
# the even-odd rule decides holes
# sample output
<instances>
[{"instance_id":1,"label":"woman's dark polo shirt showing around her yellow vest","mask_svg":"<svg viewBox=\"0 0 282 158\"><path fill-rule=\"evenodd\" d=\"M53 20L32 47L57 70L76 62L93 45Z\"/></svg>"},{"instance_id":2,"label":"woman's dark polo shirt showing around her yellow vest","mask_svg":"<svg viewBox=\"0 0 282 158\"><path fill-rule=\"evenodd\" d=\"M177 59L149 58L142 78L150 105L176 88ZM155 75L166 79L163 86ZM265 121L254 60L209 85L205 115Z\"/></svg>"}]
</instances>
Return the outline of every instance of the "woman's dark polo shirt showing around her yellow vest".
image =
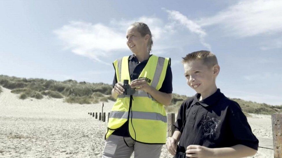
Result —
<instances>
[{"instance_id":1,"label":"woman's dark polo shirt showing around her yellow vest","mask_svg":"<svg viewBox=\"0 0 282 158\"><path fill-rule=\"evenodd\" d=\"M152 55L150 55L150 57L151 56ZM139 63L136 56L134 54L132 54L131 56L129 56L128 60L129 60L129 62L128 62L129 75L130 75L131 81L133 81L134 79L138 79L140 73L142 72L142 70L146 66L149 59L144 60L144 61ZM116 79L116 73L115 73L114 81L113 81L113 87L115 86L116 83L117 83L117 79ZM164 93L168 93L168 94L172 93L172 73L171 73L171 68L170 68L170 59L169 59L169 62L168 62L168 67L166 69L166 76L164 78L164 82L162 84L162 87L159 89L159 91L164 92ZM115 130L113 132L113 134L117 135L117 136L129 137L127 128L128 128L128 121L126 123L124 123L123 126L121 126L119 129Z\"/></svg>"}]
</instances>

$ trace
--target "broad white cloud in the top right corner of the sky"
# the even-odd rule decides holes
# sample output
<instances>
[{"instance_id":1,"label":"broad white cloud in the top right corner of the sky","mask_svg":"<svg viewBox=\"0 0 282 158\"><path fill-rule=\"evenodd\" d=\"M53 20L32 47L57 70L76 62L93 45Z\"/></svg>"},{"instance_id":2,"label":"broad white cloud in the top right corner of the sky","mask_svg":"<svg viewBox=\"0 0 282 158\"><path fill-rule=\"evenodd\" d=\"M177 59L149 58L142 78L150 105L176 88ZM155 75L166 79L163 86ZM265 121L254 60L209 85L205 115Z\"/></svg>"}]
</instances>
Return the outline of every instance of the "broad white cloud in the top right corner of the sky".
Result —
<instances>
[{"instance_id":1,"label":"broad white cloud in the top right corner of the sky","mask_svg":"<svg viewBox=\"0 0 282 158\"><path fill-rule=\"evenodd\" d=\"M218 12L215 16L202 18L200 26L217 24L228 35L249 37L274 34L282 31L281 0L248 0Z\"/></svg>"}]
</instances>

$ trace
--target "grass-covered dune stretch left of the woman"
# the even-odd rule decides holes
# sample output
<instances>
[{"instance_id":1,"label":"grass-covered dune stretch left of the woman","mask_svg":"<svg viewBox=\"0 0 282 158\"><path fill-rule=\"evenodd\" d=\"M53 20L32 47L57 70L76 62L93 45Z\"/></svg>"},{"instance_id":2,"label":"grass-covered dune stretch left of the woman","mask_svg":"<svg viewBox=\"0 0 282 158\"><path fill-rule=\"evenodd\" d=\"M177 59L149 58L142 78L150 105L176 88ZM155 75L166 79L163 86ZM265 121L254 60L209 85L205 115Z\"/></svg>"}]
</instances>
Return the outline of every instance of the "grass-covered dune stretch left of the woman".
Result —
<instances>
[{"instance_id":1,"label":"grass-covered dune stretch left of the woman","mask_svg":"<svg viewBox=\"0 0 282 158\"><path fill-rule=\"evenodd\" d=\"M77 82L75 80L54 81L46 79L26 79L0 75L0 85L20 94L19 98L37 98L44 96L64 98L68 103L93 104L100 98L107 102L113 100L110 96L112 86L104 83Z\"/></svg>"}]
</instances>

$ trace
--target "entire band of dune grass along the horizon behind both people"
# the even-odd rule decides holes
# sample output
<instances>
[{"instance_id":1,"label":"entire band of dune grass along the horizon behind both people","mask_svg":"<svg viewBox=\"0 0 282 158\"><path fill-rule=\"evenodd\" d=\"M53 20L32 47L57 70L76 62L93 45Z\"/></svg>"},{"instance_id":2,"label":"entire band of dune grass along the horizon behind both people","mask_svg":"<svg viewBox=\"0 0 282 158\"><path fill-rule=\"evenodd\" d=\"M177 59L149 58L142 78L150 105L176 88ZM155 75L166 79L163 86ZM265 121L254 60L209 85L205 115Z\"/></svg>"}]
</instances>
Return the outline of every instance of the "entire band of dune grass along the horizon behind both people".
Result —
<instances>
[{"instance_id":1,"label":"entire band of dune grass along the horizon behind both people","mask_svg":"<svg viewBox=\"0 0 282 158\"><path fill-rule=\"evenodd\" d=\"M44 96L52 98L64 98L64 102L79 104L95 104L100 101L115 101L111 96L112 85L105 83L77 82L75 80L54 81L46 79L26 79L0 75L0 85L12 90L12 93L20 94L19 98L41 99ZM0 86L0 92L1 90ZM166 112L177 113L183 100L189 99L185 95L172 94L170 106L165 106ZM247 113L267 114L282 112L282 105L272 106L265 103L257 103L233 98L238 102L242 111Z\"/></svg>"}]
</instances>

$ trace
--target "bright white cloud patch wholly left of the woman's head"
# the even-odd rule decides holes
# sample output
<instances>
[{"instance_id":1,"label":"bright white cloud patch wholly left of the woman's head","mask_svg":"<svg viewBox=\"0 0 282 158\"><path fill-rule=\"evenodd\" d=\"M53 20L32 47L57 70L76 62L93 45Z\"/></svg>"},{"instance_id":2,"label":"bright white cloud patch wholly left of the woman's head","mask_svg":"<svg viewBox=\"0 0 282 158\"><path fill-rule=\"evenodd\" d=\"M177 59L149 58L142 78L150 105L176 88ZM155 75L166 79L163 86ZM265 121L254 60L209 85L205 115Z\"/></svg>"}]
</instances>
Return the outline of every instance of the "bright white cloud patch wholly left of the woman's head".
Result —
<instances>
[{"instance_id":1,"label":"bright white cloud patch wholly left of the woman's head","mask_svg":"<svg viewBox=\"0 0 282 158\"><path fill-rule=\"evenodd\" d=\"M65 49L99 62L103 62L101 56L127 49L125 35L103 24L71 21L54 33L64 42Z\"/></svg>"}]
</instances>

